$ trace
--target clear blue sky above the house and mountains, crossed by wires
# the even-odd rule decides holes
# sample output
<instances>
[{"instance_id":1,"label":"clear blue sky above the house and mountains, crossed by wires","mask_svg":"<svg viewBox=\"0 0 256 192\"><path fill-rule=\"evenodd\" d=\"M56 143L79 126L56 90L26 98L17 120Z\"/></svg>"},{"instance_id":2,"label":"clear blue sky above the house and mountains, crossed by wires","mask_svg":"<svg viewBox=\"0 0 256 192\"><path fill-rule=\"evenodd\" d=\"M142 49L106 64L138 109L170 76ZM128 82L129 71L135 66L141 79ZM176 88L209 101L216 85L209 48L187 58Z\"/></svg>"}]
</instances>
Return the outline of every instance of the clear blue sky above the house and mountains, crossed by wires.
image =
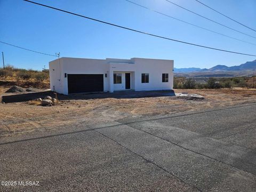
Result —
<instances>
[{"instance_id":1,"label":"clear blue sky above the house and mountains, crossed by wires","mask_svg":"<svg viewBox=\"0 0 256 192\"><path fill-rule=\"evenodd\" d=\"M130 1L169 14L172 17L256 44L256 38L221 27L182 10L165 0ZM256 36L255 31L222 17L194 0L170 1L243 33ZM255 0L201 1L256 29ZM124 0L35 0L35 2L181 41L236 52L256 53L255 45L235 41L234 39L189 26ZM256 59L246 55L207 50L201 47L133 33L132 31L75 17L21 0L0 0L0 18L0 41L49 54L60 52L61 57L173 59L174 67L176 68L210 68L215 65L233 66ZM0 44L0 51L4 52L5 64L19 68L42 69L44 65L48 68L48 62L55 59L51 56L20 50L4 44ZM2 59L0 61L2 65Z\"/></svg>"}]
</instances>

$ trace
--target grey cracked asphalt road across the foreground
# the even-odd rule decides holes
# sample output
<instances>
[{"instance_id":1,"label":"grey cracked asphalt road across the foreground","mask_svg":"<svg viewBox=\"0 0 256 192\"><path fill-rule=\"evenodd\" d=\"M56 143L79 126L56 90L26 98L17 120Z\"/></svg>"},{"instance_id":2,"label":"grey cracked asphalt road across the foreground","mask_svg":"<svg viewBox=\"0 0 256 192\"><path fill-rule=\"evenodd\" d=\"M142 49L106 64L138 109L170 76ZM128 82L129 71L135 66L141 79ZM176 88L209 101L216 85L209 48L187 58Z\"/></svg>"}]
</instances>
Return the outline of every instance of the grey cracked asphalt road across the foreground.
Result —
<instances>
[{"instance_id":1,"label":"grey cracked asphalt road across the foreground","mask_svg":"<svg viewBox=\"0 0 256 192\"><path fill-rule=\"evenodd\" d=\"M255 191L255 111L254 103L5 139L0 180L39 186L0 191Z\"/></svg>"}]
</instances>

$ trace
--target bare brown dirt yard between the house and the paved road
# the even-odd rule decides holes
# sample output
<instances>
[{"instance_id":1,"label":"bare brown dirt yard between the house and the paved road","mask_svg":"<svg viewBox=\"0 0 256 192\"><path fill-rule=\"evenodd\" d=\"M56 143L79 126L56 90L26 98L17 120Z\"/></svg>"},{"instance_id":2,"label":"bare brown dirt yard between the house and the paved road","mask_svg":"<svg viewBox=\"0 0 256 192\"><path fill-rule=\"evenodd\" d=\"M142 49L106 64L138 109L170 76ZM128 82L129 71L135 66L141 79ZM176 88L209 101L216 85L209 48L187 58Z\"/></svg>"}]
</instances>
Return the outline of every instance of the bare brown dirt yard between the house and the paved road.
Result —
<instances>
[{"instance_id":1,"label":"bare brown dirt yard between the house and the paved road","mask_svg":"<svg viewBox=\"0 0 256 192\"><path fill-rule=\"evenodd\" d=\"M0 95L8 88L0 86ZM34 131L61 129L62 125L83 122L104 123L124 117L155 116L182 111L232 106L256 101L256 90L174 90L195 93L205 99L186 97L147 97L129 99L67 99L52 107L28 102L0 103L0 137ZM125 94L125 92L124 92Z\"/></svg>"}]
</instances>

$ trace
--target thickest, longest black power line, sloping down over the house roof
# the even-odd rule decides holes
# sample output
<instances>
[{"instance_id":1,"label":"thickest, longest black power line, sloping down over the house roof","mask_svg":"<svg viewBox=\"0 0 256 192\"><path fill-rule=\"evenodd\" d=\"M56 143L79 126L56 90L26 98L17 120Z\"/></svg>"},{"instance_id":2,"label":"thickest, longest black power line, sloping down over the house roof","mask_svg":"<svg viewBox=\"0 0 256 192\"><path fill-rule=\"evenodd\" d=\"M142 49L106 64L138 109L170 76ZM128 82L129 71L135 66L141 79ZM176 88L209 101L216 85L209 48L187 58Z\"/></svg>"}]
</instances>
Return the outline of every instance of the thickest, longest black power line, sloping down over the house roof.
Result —
<instances>
[{"instance_id":1,"label":"thickest, longest black power line, sloping down over the house roof","mask_svg":"<svg viewBox=\"0 0 256 192\"><path fill-rule=\"evenodd\" d=\"M114 27L118 27L118 28L130 30L130 31L134 31L134 32L137 32L137 33L140 33L140 34L145 34L145 35L149 35L149 36L153 36L153 37L158 37L158 38L162 38L162 39L167 39L167 40L170 40L170 41L185 43L185 44L189 44L189 45L204 47L204 48L212 49L212 50L218 50L218 51L224 51L224 52L229 52L229 53L236 53L236 54L249 55L249 56L256 57L256 55L253 55L253 54L246 54L246 53L239 53L239 52L234 52L234 51L222 50L222 49L217 49L217 48L213 48L213 47L209 47L209 46L204 46L204 45L198 45L198 44L194 44L194 43L183 42L183 41L179 41L177 39L172 39L172 38L163 37L163 36L159 36L159 35L149 34L149 33L146 33L146 32L143 32L143 31L139 31L139 30L136 30L136 29L115 25L113 23L109 23L109 22L106 22L106 21L101 21L101 20L98 20L98 19L93 19L93 18L90 18L90 17L86 17L84 15L80 15L80 14L77 14L77 13L72 13L72 12L69 12L69 11L61 10L61 9L58 9L58 8L55 8L55 7L52 7L52 6L48 6L48 5L44 5L44 4L40 4L40 3L28 1L28 0L23 0L23 1L26 1L26 2L29 2L29 3L33 3L33 4L36 4L36 5L41 5L41 6L44 6L44 7L48 7L50 9L58 10L58 11L61 11L61 12L73 14L73 15L76 15L78 17L82 17L82 18L85 18L85 19L90 19L90 20L93 20L93 21L105 23L107 25L111 25L111 26L114 26Z\"/></svg>"}]
</instances>

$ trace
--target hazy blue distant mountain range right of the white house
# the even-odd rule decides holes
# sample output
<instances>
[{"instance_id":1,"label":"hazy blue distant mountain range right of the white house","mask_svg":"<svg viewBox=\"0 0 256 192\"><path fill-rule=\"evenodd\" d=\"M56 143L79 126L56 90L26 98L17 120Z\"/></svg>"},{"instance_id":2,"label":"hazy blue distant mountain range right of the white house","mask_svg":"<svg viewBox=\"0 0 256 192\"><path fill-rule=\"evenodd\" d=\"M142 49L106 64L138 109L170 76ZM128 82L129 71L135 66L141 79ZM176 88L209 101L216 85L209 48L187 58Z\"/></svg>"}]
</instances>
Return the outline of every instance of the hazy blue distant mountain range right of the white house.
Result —
<instances>
[{"instance_id":1,"label":"hazy blue distant mountain range right of the white house","mask_svg":"<svg viewBox=\"0 0 256 192\"><path fill-rule=\"evenodd\" d=\"M256 60L247 61L239 66L228 67L225 65L217 65L210 69L201 69L196 67L191 68L174 68L174 73L191 73L191 72L219 72L219 71L244 71L244 70L256 70Z\"/></svg>"}]
</instances>

